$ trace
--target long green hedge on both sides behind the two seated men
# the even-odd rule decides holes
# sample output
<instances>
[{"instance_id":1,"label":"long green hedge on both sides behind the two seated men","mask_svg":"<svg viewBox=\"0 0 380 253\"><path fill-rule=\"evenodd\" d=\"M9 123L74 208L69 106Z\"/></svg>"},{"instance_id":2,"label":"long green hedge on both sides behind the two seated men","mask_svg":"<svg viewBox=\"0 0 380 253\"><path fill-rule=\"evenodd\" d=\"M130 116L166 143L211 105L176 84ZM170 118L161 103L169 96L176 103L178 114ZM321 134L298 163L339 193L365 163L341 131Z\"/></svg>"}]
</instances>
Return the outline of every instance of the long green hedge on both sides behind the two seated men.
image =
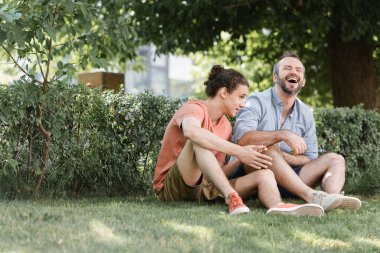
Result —
<instances>
[{"instance_id":1,"label":"long green hedge on both sides behind the two seated men","mask_svg":"<svg viewBox=\"0 0 380 253\"><path fill-rule=\"evenodd\" d=\"M101 93L53 84L47 96L20 81L0 86L0 195L30 196L41 173L44 140L38 105L52 142L41 194L52 196L152 193L165 127L181 101L150 92ZM379 192L380 116L362 108L315 113L320 153L342 154L345 190Z\"/></svg>"}]
</instances>

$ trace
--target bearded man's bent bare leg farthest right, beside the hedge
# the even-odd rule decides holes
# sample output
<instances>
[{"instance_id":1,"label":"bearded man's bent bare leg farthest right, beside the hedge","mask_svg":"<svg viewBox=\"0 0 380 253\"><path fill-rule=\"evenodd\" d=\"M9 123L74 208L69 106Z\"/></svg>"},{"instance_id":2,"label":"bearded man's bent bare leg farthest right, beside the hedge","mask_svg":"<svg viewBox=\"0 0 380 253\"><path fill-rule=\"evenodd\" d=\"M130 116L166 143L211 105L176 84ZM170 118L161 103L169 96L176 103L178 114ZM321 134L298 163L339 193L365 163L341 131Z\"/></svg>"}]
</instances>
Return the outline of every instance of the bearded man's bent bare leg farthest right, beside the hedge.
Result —
<instances>
[{"instance_id":1,"label":"bearded man's bent bare leg farthest right, beside the hedge","mask_svg":"<svg viewBox=\"0 0 380 253\"><path fill-rule=\"evenodd\" d=\"M345 170L345 161L341 155L327 153L305 164L299 177L311 188L320 184L323 191L338 194L344 186Z\"/></svg>"}]
</instances>

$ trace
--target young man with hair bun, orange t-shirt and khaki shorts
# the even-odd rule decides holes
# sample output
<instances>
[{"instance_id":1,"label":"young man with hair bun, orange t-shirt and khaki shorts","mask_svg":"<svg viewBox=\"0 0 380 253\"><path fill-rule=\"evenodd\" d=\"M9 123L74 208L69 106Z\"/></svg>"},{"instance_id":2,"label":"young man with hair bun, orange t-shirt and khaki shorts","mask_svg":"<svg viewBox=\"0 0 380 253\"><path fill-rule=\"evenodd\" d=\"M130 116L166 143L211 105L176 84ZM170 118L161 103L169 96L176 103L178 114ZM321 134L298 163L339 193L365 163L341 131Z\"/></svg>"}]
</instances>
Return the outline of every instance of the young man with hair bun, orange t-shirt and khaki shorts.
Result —
<instances>
[{"instance_id":1,"label":"young man with hair bun, orange t-shirt and khaki shorts","mask_svg":"<svg viewBox=\"0 0 380 253\"><path fill-rule=\"evenodd\" d=\"M236 116L244 107L248 81L239 72L216 65L210 71L206 101L191 100L169 122L154 173L153 188L161 200L213 200L224 198L231 215L247 213L240 196L258 191L268 213L322 216L316 204L283 203L273 173L265 169L271 158L264 146L239 146L229 142L232 127L225 115ZM237 157L225 164L226 154ZM257 169L228 181L241 162ZM240 195L240 196L239 196Z\"/></svg>"}]
</instances>

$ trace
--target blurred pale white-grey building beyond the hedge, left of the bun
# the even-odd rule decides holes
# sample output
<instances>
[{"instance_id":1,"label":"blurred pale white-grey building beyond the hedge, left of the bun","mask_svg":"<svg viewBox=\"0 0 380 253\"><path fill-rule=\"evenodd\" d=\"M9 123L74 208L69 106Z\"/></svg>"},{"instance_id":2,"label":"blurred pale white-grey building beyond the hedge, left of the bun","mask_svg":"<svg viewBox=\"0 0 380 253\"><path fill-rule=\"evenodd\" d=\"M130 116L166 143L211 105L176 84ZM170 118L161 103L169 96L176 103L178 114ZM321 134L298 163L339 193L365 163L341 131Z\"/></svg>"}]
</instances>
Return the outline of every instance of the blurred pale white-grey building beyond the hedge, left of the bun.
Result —
<instances>
[{"instance_id":1,"label":"blurred pale white-grey building beyond the hedge, left of the bun","mask_svg":"<svg viewBox=\"0 0 380 253\"><path fill-rule=\"evenodd\" d=\"M127 64L125 90L139 93L152 90L155 94L165 94L175 98L186 98L194 94L191 75L193 63L184 56L155 56L153 46L142 46L137 54L142 58L143 71L134 71L133 62Z\"/></svg>"}]
</instances>

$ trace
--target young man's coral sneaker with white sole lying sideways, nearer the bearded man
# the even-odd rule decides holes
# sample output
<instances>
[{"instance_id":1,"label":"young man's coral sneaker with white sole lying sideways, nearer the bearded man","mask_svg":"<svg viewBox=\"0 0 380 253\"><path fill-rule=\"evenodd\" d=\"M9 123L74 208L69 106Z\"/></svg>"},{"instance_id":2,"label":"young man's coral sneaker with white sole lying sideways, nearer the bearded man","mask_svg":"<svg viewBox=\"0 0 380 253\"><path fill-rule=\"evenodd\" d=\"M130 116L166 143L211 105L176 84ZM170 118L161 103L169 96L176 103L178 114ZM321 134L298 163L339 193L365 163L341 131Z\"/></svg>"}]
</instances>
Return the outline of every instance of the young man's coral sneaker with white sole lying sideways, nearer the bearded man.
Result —
<instances>
[{"instance_id":1,"label":"young man's coral sneaker with white sole lying sideways, nearer the bearded man","mask_svg":"<svg viewBox=\"0 0 380 253\"><path fill-rule=\"evenodd\" d=\"M267 214L315 216L315 217L321 217L324 213L325 212L323 211L323 208L320 205L316 205L316 204L296 205L296 204L290 204L290 203L278 204L267 211Z\"/></svg>"}]
</instances>

